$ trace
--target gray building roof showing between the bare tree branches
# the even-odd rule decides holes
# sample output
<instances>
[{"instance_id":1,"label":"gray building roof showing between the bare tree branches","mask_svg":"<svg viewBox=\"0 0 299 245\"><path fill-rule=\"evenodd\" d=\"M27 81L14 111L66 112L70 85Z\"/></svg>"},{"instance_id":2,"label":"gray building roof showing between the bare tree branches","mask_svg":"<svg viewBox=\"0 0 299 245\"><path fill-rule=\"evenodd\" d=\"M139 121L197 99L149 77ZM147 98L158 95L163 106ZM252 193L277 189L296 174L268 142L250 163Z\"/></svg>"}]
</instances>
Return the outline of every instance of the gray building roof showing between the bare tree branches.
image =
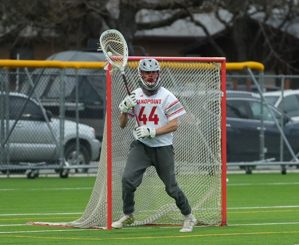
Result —
<instances>
[{"instance_id":1,"label":"gray building roof showing between the bare tree branches","mask_svg":"<svg viewBox=\"0 0 299 245\"><path fill-rule=\"evenodd\" d=\"M251 18L263 22L266 18L266 13L263 11L257 11L252 6L248 14ZM271 18L266 21L266 24L271 25L274 28L284 22L286 15L285 9L273 9ZM148 10L142 9L136 15L137 23L149 23L161 19L166 19L170 16L169 10ZM226 23L230 22L233 15L225 9L219 10L219 16ZM220 22L214 12L211 13L196 13L194 18L204 24L209 31L210 35L221 32L225 29L225 26ZM291 21L286 21L280 28L282 32L287 32L290 35L299 39L299 17L293 18ZM138 30L135 33L135 37L143 36L156 36L156 37L206 37L206 33L202 27L197 26L190 21L190 18L179 19L173 22L170 26L154 28L151 30Z\"/></svg>"}]
</instances>

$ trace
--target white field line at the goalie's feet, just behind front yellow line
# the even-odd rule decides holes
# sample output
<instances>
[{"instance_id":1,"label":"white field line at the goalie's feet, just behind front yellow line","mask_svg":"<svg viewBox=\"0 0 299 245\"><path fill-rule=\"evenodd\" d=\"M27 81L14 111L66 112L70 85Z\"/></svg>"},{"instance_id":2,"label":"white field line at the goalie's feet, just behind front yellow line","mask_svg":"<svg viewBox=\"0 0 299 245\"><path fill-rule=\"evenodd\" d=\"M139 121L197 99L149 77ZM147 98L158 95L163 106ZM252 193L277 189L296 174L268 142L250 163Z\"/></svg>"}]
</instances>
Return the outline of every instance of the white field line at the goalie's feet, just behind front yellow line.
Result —
<instances>
[{"instance_id":1,"label":"white field line at the goalie's feet, just behind front yellow line","mask_svg":"<svg viewBox=\"0 0 299 245\"><path fill-rule=\"evenodd\" d=\"M254 223L254 224L232 224L232 225L228 225L228 226L251 226L251 225L293 225L293 224L299 224L299 222L289 222L289 223ZM1 225L1 226L21 226L23 224L16 224L16 225ZM26 225L28 226L28 225ZM165 228L178 228L179 226L168 226L168 227L158 227L161 229L165 229ZM195 227L210 227L210 226L195 226ZM153 228L157 228L155 227L124 227L123 229L153 229ZM10 232L0 232L0 234L7 234L7 233L30 233L30 232L61 232L61 231L86 231L86 230L95 230L98 231L98 229L64 229L64 230L38 230L38 231L10 231Z\"/></svg>"}]
</instances>

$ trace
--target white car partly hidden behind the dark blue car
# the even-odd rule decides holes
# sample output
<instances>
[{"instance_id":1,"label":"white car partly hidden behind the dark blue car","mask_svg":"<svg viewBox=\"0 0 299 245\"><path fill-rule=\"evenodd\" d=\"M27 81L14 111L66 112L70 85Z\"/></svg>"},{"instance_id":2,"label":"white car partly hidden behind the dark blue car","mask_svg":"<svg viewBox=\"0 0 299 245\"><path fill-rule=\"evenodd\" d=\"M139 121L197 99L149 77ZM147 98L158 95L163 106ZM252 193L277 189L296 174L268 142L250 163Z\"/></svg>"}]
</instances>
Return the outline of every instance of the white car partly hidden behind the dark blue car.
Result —
<instances>
[{"instance_id":1,"label":"white car partly hidden behind the dark blue car","mask_svg":"<svg viewBox=\"0 0 299 245\"><path fill-rule=\"evenodd\" d=\"M299 89L287 89L263 93L267 102L286 113L294 121L299 121Z\"/></svg>"}]
</instances>

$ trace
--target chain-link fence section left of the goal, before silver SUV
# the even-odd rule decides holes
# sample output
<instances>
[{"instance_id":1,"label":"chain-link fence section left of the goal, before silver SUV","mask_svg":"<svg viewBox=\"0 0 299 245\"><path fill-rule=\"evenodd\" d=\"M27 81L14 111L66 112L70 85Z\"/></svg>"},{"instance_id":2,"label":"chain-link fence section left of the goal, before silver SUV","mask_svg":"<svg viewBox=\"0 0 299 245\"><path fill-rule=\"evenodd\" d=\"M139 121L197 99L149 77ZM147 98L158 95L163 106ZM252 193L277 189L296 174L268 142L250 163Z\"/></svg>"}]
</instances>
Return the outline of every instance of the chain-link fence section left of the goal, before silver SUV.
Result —
<instances>
[{"instance_id":1,"label":"chain-link fence section left of the goal, before silver SUV","mask_svg":"<svg viewBox=\"0 0 299 245\"><path fill-rule=\"evenodd\" d=\"M100 156L106 71L1 68L0 76L0 171L29 169L29 178L39 169L55 169L61 177L70 168L87 172Z\"/></svg>"}]
</instances>

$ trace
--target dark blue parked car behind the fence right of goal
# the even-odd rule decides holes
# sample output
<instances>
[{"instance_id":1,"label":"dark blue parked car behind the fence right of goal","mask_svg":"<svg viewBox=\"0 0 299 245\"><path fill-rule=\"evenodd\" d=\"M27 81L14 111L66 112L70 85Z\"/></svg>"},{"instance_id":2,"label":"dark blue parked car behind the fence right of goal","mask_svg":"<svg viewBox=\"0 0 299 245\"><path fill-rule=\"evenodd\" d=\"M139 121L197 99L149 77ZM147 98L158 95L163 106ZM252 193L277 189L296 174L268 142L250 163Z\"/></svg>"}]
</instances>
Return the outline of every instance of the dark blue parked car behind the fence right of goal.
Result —
<instances>
[{"instance_id":1,"label":"dark blue parked car behind the fence right of goal","mask_svg":"<svg viewBox=\"0 0 299 245\"><path fill-rule=\"evenodd\" d=\"M264 129L265 158L280 160L280 132L271 112L263 104L263 125L261 122L261 99L252 92L227 91L226 93L227 161L249 162L260 160L260 130ZM299 151L299 122L270 105L274 116L283 117L283 132L295 154ZM284 160L292 159L284 147Z\"/></svg>"}]
</instances>

